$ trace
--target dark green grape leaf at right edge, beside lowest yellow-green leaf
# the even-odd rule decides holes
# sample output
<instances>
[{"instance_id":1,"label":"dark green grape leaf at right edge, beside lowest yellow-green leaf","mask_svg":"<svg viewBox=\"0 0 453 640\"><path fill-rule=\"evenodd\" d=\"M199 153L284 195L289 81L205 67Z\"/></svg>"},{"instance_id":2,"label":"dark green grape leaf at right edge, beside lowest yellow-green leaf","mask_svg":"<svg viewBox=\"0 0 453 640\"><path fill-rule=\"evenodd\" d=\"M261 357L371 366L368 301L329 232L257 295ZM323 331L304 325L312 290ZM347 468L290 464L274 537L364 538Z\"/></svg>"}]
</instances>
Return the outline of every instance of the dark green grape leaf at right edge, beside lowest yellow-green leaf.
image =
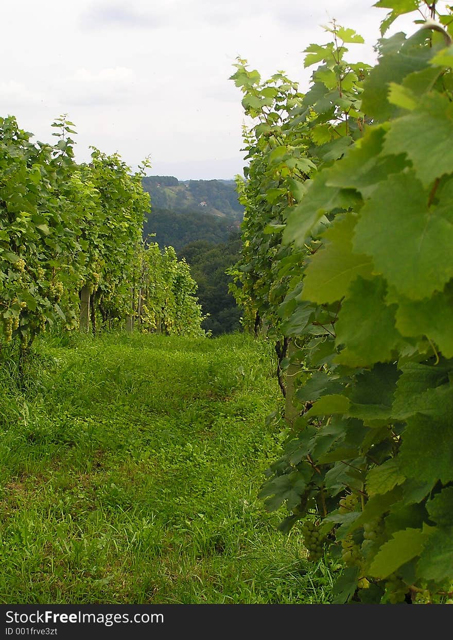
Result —
<instances>
[{"instance_id":1,"label":"dark green grape leaf at right edge, beside lowest yellow-green leaf","mask_svg":"<svg viewBox=\"0 0 453 640\"><path fill-rule=\"evenodd\" d=\"M453 579L453 527L436 528L427 541L417 563L417 575L422 580L438 584Z\"/></svg>"}]
</instances>

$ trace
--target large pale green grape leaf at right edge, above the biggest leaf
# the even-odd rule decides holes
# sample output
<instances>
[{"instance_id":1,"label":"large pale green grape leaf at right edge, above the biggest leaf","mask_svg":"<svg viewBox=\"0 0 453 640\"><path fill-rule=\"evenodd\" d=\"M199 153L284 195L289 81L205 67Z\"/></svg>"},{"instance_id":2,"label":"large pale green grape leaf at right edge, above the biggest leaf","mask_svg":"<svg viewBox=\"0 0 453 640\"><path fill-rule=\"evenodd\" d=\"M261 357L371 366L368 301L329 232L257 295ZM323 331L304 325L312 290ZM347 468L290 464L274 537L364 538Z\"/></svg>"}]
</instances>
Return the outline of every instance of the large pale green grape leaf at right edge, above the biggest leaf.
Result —
<instances>
[{"instance_id":1,"label":"large pale green grape leaf at right edge, above the biggest leaf","mask_svg":"<svg viewBox=\"0 0 453 640\"><path fill-rule=\"evenodd\" d=\"M433 92L418 100L417 109L392 122L384 152L406 152L417 178L427 187L444 173L453 173L452 138L453 103L447 95Z\"/></svg>"}]
</instances>

